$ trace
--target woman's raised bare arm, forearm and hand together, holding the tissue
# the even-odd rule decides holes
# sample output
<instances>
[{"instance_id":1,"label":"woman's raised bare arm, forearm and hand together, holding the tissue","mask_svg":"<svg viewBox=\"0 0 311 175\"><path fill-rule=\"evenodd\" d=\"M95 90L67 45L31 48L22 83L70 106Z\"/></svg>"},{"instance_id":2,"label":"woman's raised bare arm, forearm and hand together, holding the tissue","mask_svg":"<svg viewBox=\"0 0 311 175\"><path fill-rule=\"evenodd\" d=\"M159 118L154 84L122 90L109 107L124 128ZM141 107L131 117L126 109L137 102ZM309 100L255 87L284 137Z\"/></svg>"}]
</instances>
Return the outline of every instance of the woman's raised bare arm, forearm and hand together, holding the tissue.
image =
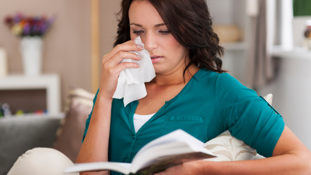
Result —
<instances>
[{"instance_id":1,"label":"woman's raised bare arm, forearm and hand together, holding the tissue","mask_svg":"<svg viewBox=\"0 0 311 175\"><path fill-rule=\"evenodd\" d=\"M140 48L139 48L140 47ZM138 68L133 62L123 62L122 59L140 60L140 56L128 51L141 51L133 40L117 45L102 60L100 90L93 106L89 127L77 157L76 163L108 161L109 133L111 120L111 101L117 88L118 76L126 68ZM85 172L81 175L94 173ZM108 175L107 171L96 173Z\"/></svg>"}]
</instances>

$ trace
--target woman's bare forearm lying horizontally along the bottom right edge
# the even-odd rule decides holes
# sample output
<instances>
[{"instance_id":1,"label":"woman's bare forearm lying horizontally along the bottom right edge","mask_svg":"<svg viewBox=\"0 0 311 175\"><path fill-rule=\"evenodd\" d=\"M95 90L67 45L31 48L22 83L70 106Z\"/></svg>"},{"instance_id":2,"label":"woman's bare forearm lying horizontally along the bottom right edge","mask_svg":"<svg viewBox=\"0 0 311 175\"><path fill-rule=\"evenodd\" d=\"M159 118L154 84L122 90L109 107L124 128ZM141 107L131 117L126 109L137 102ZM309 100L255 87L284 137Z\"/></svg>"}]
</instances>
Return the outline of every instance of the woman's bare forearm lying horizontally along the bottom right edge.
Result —
<instances>
[{"instance_id":1,"label":"woman's bare forearm lying horizontally along the bottom right edge","mask_svg":"<svg viewBox=\"0 0 311 175\"><path fill-rule=\"evenodd\" d=\"M284 154L271 158L258 160L211 162L198 161L201 163L198 174L202 175L286 175L286 174L311 174L311 162L308 156L302 154Z\"/></svg>"}]
</instances>

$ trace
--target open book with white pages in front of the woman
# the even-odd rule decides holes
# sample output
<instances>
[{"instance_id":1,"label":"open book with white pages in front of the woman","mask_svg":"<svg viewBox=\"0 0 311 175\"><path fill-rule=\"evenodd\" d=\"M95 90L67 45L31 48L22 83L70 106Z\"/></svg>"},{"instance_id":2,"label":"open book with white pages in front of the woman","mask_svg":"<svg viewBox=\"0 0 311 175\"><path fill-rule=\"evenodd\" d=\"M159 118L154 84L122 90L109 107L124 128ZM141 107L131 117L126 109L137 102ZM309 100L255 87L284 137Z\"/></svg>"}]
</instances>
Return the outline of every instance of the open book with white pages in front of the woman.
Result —
<instances>
[{"instance_id":1,"label":"open book with white pages in front of the woman","mask_svg":"<svg viewBox=\"0 0 311 175\"><path fill-rule=\"evenodd\" d=\"M134 156L132 163L92 162L76 163L65 173L111 170L123 174L147 175L165 170L182 163L214 158L204 143L179 129L152 140Z\"/></svg>"}]
</instances>

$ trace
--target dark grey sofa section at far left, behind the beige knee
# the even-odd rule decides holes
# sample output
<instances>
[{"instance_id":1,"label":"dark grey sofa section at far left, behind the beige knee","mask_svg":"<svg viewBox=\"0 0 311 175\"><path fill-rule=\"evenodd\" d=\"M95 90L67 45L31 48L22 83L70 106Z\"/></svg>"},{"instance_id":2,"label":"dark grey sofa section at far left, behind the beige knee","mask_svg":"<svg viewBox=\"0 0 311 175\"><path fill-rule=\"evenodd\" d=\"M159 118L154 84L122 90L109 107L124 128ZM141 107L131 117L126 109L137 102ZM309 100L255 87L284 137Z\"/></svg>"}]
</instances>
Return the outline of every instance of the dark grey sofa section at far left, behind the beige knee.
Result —
<instances>
[{"instance_id":1,"label":"dark grey sofa section at far left, behind the beige knee","mask_svg":"<svg viewBox=\"0 0 311 175\"><path fill-rule=\"evenodd\" d=\"M0 175L6 175L19 156L36 147L51 148L61 118L0 118Z\"/></svg>"}]
</instances>

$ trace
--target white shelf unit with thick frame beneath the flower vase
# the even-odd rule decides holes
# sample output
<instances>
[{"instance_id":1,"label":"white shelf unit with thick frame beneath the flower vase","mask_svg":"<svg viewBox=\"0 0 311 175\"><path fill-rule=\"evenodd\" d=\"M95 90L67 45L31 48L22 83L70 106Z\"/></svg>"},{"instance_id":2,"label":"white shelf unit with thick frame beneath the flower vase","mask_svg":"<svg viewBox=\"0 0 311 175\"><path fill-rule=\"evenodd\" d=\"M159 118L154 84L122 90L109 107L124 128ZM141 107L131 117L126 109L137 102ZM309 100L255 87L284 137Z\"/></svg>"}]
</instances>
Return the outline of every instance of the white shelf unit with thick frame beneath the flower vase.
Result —
<instances>
[{"instance_id":1,"label":"white shelf unit with thick frame beneath the flower vase","mask_svg":"<svg viewBox=\"0 0 311 175\"><path fill-rule=\"evenodd\" d=\"M49 114L60 113L60 78L57 74L39 76L7 75L0 78L0 90L46 89Z\"/></svg>"}]
</instances>

